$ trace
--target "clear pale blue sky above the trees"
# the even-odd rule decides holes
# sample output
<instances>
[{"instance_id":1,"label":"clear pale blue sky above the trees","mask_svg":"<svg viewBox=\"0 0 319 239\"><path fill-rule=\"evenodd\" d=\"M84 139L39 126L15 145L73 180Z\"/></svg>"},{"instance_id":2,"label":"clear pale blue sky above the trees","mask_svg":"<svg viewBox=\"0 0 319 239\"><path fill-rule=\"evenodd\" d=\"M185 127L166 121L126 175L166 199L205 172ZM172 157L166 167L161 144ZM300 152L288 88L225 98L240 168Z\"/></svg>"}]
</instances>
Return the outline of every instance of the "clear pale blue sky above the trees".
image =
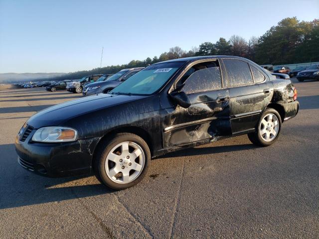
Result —
<instances>
[{"instance_id":1,"label":"clear pale blue sky above the trees","mask_svg":"<svg viewBox=\"0 0 319 239\"><path fill-rule=\"evenodd\" d=\"M0 73L74 72L261 36L319 0L0 0Z\"/></svg>"}]
</instances>

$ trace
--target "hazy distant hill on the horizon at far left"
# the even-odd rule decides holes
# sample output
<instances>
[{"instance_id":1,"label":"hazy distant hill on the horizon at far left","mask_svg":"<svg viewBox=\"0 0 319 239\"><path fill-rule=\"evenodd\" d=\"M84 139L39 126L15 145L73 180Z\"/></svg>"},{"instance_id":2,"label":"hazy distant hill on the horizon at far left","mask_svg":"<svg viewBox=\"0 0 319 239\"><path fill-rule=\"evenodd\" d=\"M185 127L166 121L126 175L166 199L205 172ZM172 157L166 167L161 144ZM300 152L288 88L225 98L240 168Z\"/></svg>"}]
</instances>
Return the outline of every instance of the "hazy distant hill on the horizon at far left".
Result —
<instances>
[{"instance_id":1,"label":"hazy distant hill on the horizon at far left","mask_svg":"<svg viewBox=\"0 0 319 239\"><path fill-rule=\"evenodd\" d=\"M0 83L49 80L63 75L66 73L0 73Z\"/></svg>"}]
</instances>

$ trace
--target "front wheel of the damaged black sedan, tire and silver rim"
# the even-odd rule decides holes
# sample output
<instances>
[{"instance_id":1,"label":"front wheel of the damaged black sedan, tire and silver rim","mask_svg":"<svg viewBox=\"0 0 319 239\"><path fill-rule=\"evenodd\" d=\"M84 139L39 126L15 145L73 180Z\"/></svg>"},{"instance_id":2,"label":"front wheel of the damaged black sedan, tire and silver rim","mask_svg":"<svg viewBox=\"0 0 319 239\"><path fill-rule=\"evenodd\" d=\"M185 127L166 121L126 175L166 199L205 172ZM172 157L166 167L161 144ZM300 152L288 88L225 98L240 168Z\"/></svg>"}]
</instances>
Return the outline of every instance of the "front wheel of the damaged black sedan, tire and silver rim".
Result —
<instances>
[{"instance_id":1,"label":"front wheel of the damaged black sedan, tire and silver rim","mask_svg":"<svg viewBox=\"0 0 319 239\"><path fill-rule=\"evenodd\" d=\"M142 181L150 160L150 148L143 138L133 133L117 133L99 144L92 166L101 183L122 190Z\"/></svg>"}]
</instances>

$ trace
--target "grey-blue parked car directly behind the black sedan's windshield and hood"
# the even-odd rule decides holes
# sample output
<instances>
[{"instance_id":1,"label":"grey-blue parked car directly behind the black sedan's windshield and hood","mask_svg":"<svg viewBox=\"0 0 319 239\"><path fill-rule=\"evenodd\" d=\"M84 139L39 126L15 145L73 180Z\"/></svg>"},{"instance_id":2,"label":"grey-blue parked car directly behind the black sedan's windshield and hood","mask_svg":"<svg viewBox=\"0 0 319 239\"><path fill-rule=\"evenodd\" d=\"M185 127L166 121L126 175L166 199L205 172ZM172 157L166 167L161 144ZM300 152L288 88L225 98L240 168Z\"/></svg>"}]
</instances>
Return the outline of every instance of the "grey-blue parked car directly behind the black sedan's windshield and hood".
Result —
<instances>
[{"instance_id":1,"label":"grey-blue parked car directly behind the black sedan's windshield and hood","mask_svg":"<svg viewBox=\"0 0 319 239\"><path fill-rule=\"evenodd\" d=\"M83 89L83 96L92 96L98 93L108 93L109 91L120 85L123 81L141 71L143 68L144 67L123 69L110 78L106 79L105 81L87 84Z\"/></svg>"}]
</instances>

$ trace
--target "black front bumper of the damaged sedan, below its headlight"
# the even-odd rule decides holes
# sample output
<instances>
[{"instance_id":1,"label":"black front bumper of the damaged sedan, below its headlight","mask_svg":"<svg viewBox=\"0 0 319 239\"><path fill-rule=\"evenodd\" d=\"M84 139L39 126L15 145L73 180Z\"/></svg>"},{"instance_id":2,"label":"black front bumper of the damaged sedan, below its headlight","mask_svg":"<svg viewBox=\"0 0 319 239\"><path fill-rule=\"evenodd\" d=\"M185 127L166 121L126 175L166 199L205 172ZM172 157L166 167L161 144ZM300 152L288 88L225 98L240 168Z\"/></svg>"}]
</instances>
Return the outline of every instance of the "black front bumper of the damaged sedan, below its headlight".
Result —
<instances>
[{"instance_id":1,"label":"black front bumper of the damaged sedan, below its headlight","mask_svg":"<svg viewBox=\"0 0 319 239\"><path fill-rule=\"evenodd\" d=\"M48 177L90 173L93 152L100 138L65 143L38 143L31 141L33 133L24 142L18 137L15 139L18 163L23 168Z\"/></svg>"}]
</instances>

